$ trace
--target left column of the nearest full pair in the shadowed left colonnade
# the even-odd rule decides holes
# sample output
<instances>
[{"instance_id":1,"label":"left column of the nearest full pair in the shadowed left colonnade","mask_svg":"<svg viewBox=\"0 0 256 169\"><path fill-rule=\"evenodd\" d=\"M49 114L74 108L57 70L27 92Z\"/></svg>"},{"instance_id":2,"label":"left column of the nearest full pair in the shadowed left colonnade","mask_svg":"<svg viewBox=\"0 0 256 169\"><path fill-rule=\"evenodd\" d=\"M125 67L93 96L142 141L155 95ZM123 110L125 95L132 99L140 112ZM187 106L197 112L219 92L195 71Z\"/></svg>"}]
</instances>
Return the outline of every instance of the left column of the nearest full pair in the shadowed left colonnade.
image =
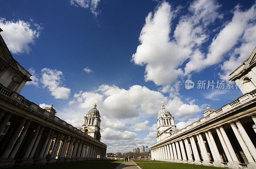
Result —
<instances>
[{"instance_id":1,"label":"left column of the nearest full pair in the shadowed left colonnade","mask_svg":"<svg viewBox=\"0 0 256 169\"><path fill-rule=\"evenodd\" d=\"M11 138L11 140L9 141L9 143L8 143L8 145L7 145L7 147L6 147L6 149L5 149L5 151L4 151L4 153L3 153L3 155L2 155L1 158L8 158L8 156L9 156L9 154L11 153L12 148L13 148L13 146L14 146L16 140L17 140L18 137L19 137L20 131L22 130L22 127L24 126L25 122L26 122L26 119L25 119L25 118L22 118L22 119L21 119L21 122L20 122L20 124L19 124L19 126L18 126L18 127L16 128L16 130L14 131L14 133L13 133L13 135L12 135L12 138Z\"/></svg>"}]
</instances>

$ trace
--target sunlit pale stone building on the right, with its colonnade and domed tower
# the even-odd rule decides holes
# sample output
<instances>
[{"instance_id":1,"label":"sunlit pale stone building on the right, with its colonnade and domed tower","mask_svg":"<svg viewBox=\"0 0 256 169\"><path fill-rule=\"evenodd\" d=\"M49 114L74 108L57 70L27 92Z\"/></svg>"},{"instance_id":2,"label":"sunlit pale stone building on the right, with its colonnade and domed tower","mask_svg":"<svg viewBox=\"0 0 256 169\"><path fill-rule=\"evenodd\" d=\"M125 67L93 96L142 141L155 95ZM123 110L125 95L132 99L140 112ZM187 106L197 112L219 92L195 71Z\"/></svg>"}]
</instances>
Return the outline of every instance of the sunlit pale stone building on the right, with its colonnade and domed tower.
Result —
<instances>
[{"instance_id":1,"label":"sunlit pale stone building on the right, with its colonnade and domed tower","mask_svg":"<svg viewBox=\"0 0 256 169\"><path fill-rule=\"evenodd\" d=\"M218 110L207 106L200 120L157 138L157 143L150 147L152 159L226 168L256 168L255 53L256 48L230 74L230 81L236 82L243 95ZM170 116L168 112L166 114ZM162 113L159 117L158 113L158 121L164 120L164 115ZM159 126L165 126L163 120L157 123L157 137L161 136Z\"/></svg>"}]
</instances>

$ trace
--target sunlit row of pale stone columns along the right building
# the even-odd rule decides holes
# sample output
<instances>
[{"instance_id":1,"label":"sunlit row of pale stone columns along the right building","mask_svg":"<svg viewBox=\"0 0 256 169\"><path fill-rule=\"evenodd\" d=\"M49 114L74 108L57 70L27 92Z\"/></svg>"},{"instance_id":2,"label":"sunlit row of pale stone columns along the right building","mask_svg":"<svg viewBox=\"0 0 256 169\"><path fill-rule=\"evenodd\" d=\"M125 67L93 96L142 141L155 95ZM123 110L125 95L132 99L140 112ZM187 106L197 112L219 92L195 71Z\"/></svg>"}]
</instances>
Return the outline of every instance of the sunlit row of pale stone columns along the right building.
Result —
<instances>
[{"instance_id":1,"label":"sunlit row of pale stone columns along the right building","mask_svg":"<svg viewBox=\"0 0 256 169\"><path fill-rule=\"evenodd\" d=\"M251 115L254 124L256 116ZM231 129L230 129L231 128ZM244 158L239 157L238 150L231 144L228 132L233 131L238 143L244 153ZM256 132L256 130L253 128ZM217 133L214 138L212 133ZM253 132L253 134L255 134ZM255 140L254 140L255 141ZM216 142L221 147L216 145ZM234 144L234 141L232 140ZM220 151L224 151L221 152ZM235 152L236 151L236 152ZM166 143L159 143L151 147L152 159L162 161L172 161L179 163L212 165L228 168L255 168L256 148L239 120L232 121L223 125L213 127L211 130L205 130L183 137L177 140L169 140ZM239 157L239 158L238 158ZM246 163L246 164L245 164Z\"/></svg>"}]
</instances>

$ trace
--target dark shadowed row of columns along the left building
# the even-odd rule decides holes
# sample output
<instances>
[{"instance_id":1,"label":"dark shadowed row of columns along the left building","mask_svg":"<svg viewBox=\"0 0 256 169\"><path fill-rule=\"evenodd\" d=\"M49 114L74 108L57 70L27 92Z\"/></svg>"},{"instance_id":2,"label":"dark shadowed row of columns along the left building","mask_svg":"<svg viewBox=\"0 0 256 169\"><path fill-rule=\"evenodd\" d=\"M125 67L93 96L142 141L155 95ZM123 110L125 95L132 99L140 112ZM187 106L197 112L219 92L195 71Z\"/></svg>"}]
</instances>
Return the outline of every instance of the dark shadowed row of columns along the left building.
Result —
<instances>
[{"instance_id":1,"label":"dark shadowed row of columns along the left building","mask_svg":"<svg viewBox=\"0 0 256 169\"><path fill-rule=\"evenodd\" d=\"M4 164L12 166L16 164L15 160L19 160L20 165L29 165L106 158L105 144L84 137L81 139L79 135L19 118L4 110L0 110L0 133L10 121L13 121L12 128L7 130L5 139L1 141L1 167Z\"/></svg>"}]
</instances>

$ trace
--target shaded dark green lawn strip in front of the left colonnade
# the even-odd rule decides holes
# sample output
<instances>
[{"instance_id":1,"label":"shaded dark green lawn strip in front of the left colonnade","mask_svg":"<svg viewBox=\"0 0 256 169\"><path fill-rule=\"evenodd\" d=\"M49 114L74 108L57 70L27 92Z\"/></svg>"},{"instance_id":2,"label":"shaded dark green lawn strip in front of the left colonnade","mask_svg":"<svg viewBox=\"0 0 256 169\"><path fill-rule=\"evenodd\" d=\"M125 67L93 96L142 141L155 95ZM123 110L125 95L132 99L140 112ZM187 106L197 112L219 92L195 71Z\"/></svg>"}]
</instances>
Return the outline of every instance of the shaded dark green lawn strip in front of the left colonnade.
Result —
<instances>
[{"instance_id":1,"label":"shaded dark green lawn strip in front of the left colonnade","mask_svg":"<svg viewBox=\"0 0 256 169\"><path fill-rule=\"evenodd\" d=\"M93 169L114 169L124 160L92 160L92 161L80 161L72 163L57 163L57 164L45 164L45 165L30 165L13 167L19 169L34 169L34 168L54 168L54 169L72 169L72 168L93 168Z\"/></svg>"}]
</instances>

